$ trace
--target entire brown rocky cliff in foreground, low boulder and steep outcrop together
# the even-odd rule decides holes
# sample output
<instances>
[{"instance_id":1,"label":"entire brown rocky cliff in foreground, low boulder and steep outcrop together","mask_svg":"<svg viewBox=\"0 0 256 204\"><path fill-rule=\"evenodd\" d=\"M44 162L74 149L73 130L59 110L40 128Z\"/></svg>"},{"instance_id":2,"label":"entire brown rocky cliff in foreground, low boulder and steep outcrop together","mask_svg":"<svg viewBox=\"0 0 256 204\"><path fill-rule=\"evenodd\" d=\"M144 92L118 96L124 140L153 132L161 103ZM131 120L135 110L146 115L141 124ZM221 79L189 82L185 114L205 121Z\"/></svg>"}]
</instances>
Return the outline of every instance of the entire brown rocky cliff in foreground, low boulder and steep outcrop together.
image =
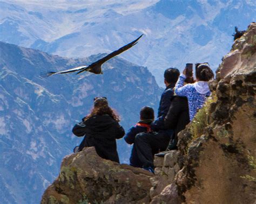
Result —
<instances>
[{"instance_id":1,"label":"entire brown rocky cliff in foreground, low boulder and steep outcrop together","mask_svg":"<svg viewBox=\"0 0 256 204\"><path fill-rule=\"evenodd\" d=\"M255 79L252 23L223 58L211 99L179 133L178 151L155 158L156 175L85 149L63 160L42 203L254 203Z\"/></svg>"}]
</instances>

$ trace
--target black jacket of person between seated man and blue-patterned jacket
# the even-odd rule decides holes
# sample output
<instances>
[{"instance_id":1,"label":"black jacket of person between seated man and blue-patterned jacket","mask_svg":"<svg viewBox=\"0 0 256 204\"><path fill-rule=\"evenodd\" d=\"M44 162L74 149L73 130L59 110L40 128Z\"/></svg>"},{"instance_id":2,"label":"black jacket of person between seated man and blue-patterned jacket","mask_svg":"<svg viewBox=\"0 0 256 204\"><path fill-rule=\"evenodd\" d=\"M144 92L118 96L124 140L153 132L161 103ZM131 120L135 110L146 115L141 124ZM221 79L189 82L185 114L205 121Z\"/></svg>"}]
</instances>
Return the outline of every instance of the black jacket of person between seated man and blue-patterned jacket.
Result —
<instances>
[{"instance_id":1,"label":"black jacket of person between seated man and blue-patterned jacket","mask_svg":"<svg viewBox=\"0 0 256 204\"><path fill-rule=\"evenodd\" d=\"M174 130L172 139L177 139L178 133L181 130L184 130L189 122L190 115L188 111L187 98L174 96L169 111L164 119L165 128Z\"/></svg>"}]
</instances>

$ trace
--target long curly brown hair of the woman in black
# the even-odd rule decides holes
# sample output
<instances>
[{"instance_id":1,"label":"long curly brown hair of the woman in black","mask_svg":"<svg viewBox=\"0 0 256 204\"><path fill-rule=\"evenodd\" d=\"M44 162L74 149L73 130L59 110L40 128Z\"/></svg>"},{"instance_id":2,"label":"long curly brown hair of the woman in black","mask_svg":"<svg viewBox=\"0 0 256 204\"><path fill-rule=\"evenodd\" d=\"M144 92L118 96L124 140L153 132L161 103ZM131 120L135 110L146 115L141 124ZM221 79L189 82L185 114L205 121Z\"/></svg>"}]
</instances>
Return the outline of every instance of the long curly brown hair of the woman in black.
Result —
<instances>
[{"instance_id":1,"label":"long curly brown hair of the woman in black","mask_svg":"<svg viewBox=\"0 0 256 204\"><path fill-rule=\"evenodd\" d=\"M119 116L116 114L116 112L109 107L109 103L107 103L107 100L104 97L99 97L94 101L93 108L87 116L83 118L83 121L86 121L92 116L96 115L109 115L112 117L115 121L119 122Z\"/></svg>"}]
</instances>

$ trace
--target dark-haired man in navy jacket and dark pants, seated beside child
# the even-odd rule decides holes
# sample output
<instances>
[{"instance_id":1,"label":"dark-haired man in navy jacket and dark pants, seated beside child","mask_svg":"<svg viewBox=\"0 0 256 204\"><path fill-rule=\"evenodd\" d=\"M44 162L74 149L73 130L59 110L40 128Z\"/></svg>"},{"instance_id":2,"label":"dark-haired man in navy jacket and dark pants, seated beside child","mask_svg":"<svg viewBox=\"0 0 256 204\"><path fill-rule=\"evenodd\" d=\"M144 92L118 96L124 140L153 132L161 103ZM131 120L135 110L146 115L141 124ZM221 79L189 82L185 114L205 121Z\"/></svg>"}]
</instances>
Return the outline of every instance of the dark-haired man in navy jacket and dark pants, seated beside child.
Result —
<instances>
[{"instance_id":1,"label":"dark-haired man in navy jacket and dark pants, seated beside child","mask_svg":"<svg viewBox=\"0 0 256 204\"><path fill-rule=\"evenodd\" d=\"M136 153L145 170L153 172L154 153L166 150L172 137L173 130L166 129L164 118L169 110L173 98L173 88L179 78L179 70L176 68L166 69L164 82L166 89L161 95L158 117L151 123L152 132L138 133L134 140Z\"/></svg>"}]
</instances>

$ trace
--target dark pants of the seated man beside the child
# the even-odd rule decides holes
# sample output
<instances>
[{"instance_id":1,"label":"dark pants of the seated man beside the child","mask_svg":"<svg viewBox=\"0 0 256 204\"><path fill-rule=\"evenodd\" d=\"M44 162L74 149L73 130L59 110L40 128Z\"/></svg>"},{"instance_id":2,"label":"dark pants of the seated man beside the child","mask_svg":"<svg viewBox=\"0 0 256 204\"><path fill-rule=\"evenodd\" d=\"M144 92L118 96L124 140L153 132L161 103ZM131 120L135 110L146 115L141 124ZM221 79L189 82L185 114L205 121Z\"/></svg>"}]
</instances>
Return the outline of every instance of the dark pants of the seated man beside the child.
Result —
<instances>
[{"instance_id":1,"label":"dark pants of the seated man beside the child","mask_svg":"<svg viewBox=\"0 0 256 204\"><path fill-rule=\"evenodd\" d=\"M143 167L154 166L154 154L166 150L170 138L170 134L166 132L143 132L136 135L134 147Z\"/></svg>"}]
</instances>

